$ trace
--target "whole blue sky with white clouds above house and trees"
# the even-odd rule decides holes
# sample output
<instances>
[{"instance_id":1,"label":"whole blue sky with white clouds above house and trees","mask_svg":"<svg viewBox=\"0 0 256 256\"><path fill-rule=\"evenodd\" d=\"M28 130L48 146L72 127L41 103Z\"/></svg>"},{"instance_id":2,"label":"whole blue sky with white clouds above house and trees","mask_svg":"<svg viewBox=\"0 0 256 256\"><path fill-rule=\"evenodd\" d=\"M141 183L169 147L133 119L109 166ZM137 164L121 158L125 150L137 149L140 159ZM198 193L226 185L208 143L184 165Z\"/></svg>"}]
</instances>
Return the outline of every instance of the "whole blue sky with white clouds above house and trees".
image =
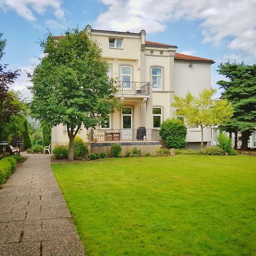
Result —
<instances>
[{"instance_id":1,"label":"whole blue sky with white clouds above house and trees","mask_svg":"<svg viewBox=\"0 0 256 256\"><path fill-rule=\"evenodd\" d=\"M11 89L31 98L26 72L38 64L39 42L48 30L60 35L86 24L102 30L144 29L146 40L216 61L211 85L218 89L221 62L256 62L255 11L256 0L0 0L0 31L7 40L2 61L20 69Z\"/></svg>"}]
</instances>

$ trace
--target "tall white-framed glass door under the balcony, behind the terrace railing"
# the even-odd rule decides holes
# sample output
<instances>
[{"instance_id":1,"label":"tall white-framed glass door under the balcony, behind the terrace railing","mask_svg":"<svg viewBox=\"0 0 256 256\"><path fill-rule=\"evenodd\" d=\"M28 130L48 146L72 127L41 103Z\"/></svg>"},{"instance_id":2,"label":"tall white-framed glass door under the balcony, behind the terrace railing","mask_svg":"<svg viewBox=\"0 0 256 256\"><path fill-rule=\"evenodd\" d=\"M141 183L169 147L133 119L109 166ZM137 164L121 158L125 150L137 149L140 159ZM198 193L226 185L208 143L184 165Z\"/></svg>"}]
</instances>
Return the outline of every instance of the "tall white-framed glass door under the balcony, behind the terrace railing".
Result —
<instances>
[{"instance_id":1,"label":"tall white-framed glass door under the balcony, behind the terrace railing","mask_svg":"<svg viewBox=\"0 0 256 256\"><path fill-rule=\"evenodd\" d=\"M122 108L122 140L132 141L133 139L133 109L130 107Z\"/></svg>"}]
</instances>

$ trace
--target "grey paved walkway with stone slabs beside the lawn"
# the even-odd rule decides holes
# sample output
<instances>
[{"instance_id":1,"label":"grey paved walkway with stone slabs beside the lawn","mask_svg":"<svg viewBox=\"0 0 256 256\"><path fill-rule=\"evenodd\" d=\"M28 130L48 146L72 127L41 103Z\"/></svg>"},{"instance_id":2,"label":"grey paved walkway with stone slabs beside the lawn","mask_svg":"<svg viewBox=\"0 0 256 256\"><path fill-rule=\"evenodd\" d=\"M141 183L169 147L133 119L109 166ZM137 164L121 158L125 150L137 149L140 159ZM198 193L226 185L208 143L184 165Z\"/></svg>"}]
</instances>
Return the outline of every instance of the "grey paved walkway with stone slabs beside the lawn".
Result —
<instances>
[{"instance_id":1,"label":"grey paved walkway with stone slabs beside the lawn","mask_svg":"<svg viewBox=\"0 0 256 256\"><path fill-rule=\"evenodd\" d=\"M49 155L22 155L0 189L0 255L84 255Z\"/></svg>"}]
</instances>

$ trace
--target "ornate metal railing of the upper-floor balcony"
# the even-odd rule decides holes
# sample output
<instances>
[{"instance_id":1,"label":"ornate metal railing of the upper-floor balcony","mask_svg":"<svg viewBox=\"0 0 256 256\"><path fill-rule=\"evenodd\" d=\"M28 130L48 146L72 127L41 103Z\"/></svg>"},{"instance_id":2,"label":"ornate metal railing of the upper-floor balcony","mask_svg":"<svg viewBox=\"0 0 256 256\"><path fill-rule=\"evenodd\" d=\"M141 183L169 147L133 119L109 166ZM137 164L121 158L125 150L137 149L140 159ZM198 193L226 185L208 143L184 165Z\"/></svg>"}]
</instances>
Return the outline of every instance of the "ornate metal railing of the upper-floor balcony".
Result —
<instances>
[{"instance_id":1,"label":"ornate metal railing of the upper-floor balcony","mask_svg":"<svg viewBox=\"0 0 256 256\"><path fill-rule=\"evenodd\" d=\"M117 93L121 94L134 94L134 95L149 95L150 83L149 82L118 82Z\"/></svg>"}]
</instances>

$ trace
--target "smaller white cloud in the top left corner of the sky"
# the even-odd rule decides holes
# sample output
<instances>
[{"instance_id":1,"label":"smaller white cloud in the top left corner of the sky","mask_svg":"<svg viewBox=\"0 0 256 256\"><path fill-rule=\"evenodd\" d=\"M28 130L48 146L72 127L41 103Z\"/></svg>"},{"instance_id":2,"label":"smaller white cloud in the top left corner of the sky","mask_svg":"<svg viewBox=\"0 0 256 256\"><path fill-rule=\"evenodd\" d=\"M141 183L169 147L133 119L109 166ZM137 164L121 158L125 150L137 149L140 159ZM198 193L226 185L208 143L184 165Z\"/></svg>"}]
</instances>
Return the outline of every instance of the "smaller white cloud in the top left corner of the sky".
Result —
<instances>
[{"instance_id":1,"label":"smaller white cloud in the top left corner of the sky","mask_svg":"<svg viewBox=\"0 0 256 256\"><path fill-rule=\"evenodd\" d=\"M57 18L64 18L64 10L61 8L61 0L0 0L0 6L5 11L13 9L23 18L35 21L35 12L43 15L46 13L47 7L55 10Z\"/></svg>"}]
</instances>

